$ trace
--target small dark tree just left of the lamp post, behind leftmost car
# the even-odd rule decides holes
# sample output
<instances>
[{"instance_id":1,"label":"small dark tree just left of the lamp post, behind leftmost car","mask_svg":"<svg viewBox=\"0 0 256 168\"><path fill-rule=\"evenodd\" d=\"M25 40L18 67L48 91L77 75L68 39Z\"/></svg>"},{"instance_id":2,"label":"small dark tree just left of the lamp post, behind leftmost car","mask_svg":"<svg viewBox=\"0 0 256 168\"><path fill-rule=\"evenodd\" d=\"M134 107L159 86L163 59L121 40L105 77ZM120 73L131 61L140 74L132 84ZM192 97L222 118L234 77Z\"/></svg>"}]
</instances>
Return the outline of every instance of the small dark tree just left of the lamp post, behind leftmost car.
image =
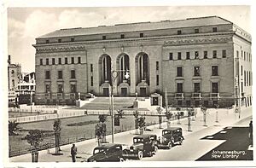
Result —
<instances>
[{"instance_id":1,"label":"small dark tree just left of the lamp post, behind leftmost car","mask_svg":"<svg viewBox=\"0 0 256 168\"><path fill-rule=\"evenodd\" d=\"M98 146L100 146L102 142L106 142L107 127L104 122L107 118L107 115L99 115L99 123L95 126L95 136L97 138Z\"/></svg>"}]
</instances>

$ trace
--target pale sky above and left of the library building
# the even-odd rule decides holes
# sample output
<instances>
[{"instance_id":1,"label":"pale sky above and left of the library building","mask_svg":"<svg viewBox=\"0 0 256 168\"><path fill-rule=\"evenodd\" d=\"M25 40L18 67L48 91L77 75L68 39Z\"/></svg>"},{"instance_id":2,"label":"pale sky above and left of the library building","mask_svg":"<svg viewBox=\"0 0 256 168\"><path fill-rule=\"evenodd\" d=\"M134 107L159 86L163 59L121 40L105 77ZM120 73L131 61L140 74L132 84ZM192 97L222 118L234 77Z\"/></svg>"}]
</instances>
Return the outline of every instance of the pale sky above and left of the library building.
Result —
<instances>
[{"instance_id":1,"label":"pale sky above and left of the library building","mask_svg":"<svg viewBox=\"0 0 256 168\"><path fill-rule=\"evenodd\" d=\"M140 21L183 20L218 15L251 33L250 6L148 6L8 8L8 55L22 72L34 72L35 38L61 28L111 26Z\"/></svg>"}]
</instances>

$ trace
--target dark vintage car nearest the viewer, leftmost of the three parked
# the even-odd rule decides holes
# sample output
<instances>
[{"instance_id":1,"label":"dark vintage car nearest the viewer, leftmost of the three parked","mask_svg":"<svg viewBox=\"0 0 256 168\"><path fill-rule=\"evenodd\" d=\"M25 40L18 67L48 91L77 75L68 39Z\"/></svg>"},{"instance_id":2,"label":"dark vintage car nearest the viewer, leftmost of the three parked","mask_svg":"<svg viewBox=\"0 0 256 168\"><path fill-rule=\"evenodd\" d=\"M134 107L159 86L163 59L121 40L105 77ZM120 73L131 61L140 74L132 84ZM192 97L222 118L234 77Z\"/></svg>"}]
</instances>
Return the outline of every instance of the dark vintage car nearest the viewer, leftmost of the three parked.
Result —
<instances>
[{"instance_id":1,"label":"dark vintage car nearest the viewer, leftmost of the three parked","mask_svg":"<svg viewBox=\"0 0 256 168\"><path fill-rule=\"evenodd\" d=\"M94 148L93 155L87 159L87 162L123 161L123 149L126 147L128 146L123 144L106 143Z\"/></svg>"}]
</instances>

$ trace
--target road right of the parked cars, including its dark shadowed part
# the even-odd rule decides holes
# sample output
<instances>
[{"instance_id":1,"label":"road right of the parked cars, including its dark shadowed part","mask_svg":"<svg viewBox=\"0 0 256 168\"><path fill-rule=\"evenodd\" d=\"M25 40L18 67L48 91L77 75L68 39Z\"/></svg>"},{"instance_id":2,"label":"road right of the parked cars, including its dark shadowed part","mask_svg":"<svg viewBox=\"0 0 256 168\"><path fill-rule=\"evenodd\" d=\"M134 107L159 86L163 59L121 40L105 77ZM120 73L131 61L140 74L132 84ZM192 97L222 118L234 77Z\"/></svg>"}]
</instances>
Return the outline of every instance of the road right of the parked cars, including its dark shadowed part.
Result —
<instances>
[{"instance_id":1,"label":"road right of the parked cars, including its dark shadowed part","mask_svg":"<svg viewBox=\"0 0 256 168\"><path fill-rule=\"evenodd\" d=\"M158 150L151 158L143 158L143 161L192 161L192 160L236 160L236 158L212 158L212 151L245 151L246 154L238 154L237 159L252 159L252 151L247 151L247 126L251 118L247 118L235 125L219 131L219 126L210 126L193 134L184 136L182 146L176 146L170 150ZM228 130L228 131L227 131ZM246 136L245 136L246 134ZM213 135L213 136L212 136ZM222 135L220 138L219 135ZM216 138L214 138L214 136Z\"/></svg>"}]
</instances>

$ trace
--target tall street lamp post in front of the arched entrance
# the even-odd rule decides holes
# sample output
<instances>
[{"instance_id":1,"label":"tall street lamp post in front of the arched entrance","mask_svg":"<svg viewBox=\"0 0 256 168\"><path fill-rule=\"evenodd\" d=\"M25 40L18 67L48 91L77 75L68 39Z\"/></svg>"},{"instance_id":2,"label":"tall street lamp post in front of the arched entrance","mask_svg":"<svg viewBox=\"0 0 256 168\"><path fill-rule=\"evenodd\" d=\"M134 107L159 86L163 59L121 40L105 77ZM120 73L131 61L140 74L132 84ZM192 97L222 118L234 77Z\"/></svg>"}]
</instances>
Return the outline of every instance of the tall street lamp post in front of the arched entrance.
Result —
<instances>
[{"instance_id":1,"label":"tall street lamp post in front of the arched entrance","mask_svg":"<svg viewBox=\"0 0 256 168\"><path fill-rule=\"evenodd\" d=\"M112 143L113 143L113 134L114 134L114 122L113 122L113 83L116 78L118 78L120 72L125 72L125 79L130 78L129 70L112 70L111 77L112 77L112 85L111 85L111 125L112 125Z\"/></svg>"}]
</instances>

